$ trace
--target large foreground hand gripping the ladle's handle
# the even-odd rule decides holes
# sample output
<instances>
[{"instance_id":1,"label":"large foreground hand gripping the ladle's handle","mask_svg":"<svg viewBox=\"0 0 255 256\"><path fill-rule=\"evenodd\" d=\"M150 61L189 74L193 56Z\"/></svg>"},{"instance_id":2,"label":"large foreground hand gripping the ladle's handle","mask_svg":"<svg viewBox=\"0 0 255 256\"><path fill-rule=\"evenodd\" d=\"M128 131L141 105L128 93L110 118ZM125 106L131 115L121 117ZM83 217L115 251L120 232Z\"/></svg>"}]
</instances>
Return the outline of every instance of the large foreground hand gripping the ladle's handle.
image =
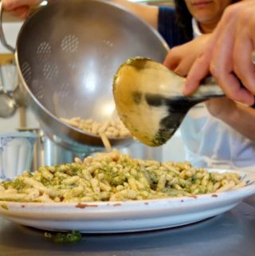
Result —
<instances>
[{"instance_id":1,"label":"large foreground hand gripping the ladle's handle","mask_svg":"<svg viewBox=\"0 0 255 256\"><path fill-rule=\"evenodd\" d=\"M211 73L230 99L253 104L255 65L251 56L255 49L254 30L253 0L244 0L227 7L206 48L190 69L183 93L194 93L202 78Z\"/></svg>"}]
</instances>

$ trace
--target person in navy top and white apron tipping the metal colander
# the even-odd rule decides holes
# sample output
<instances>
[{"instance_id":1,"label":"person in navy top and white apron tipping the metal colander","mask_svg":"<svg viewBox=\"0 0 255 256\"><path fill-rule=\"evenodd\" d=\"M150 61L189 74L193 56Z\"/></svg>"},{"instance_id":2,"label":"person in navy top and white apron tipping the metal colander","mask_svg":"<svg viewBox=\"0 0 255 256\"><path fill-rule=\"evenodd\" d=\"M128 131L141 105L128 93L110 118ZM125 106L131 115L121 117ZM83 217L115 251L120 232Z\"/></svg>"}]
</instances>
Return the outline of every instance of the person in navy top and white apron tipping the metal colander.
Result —
<instances>
[{"instance_id":1,"label":"person in navy top and white apron tipping the metal colander","mask_svg":"<svg viewBox=\"0 0 255 256\"><path fill-rule=\"evenodd\" d=\"M29 6L37 2L35 0L2 0L6 10L13 11L22 17L26 17L29 13ZM143 18L159 31L171 48L187 43L171 49L165 61L165 65L181 73L182 60L185 60L183 53L191 52L194 57L198 56L201 48L196 45L208 43L210 33L214 31L224 10L237 1L175 0L175 9L167 6L147 6L125 0L112 0L112 2L125 6ZM19 7L23 10L19 10ZM188 59L187 62L189 62ZM186 73L181 74L186 75ZM249 140L249 136L238 128L243 126L240 120L224 123L225 120L220 118L223 116L222 113L232 116L236 108L235 102L222 98L210 100L206 104L198 104L190 110L181 125L182 139L186 147L186 160L195 167L244 168L245 170L250 168L253 170L254 141Z\"/></svg>"}]
</instances>

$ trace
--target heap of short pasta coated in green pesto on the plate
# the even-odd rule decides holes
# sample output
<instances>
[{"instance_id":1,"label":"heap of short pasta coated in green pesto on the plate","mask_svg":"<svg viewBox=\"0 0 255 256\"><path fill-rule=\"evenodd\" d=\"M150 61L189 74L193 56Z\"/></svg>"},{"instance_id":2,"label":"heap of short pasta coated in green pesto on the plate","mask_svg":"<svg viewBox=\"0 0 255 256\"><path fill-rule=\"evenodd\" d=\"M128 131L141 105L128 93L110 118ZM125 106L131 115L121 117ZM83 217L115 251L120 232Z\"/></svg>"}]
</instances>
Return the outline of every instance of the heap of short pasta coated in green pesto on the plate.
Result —
<instances>
[{"instance_id":1,"label":"heap of short pasta coated in green pesto on the plate","mask_svg":"<svg viewBox=\"0 0 255 256\"><path fill-rule=\"evenodd\" d=\"M210 172L188 162L136 160L117 150L83 161L24 171L0 183L0 201L70 203L193 196L243 187L235 172Z\"/></svg>"}]
</instances>

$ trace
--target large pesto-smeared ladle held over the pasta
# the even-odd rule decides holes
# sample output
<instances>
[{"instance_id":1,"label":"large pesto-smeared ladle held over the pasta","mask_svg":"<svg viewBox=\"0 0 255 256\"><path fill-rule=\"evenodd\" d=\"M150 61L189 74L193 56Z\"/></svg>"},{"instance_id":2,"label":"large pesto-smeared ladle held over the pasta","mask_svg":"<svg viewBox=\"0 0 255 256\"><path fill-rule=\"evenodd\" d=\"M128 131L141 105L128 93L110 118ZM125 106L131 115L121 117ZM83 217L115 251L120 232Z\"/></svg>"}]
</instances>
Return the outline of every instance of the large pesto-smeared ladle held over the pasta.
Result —
<instances>
[{"instance_id":1,"label":"large pesto-smeared ladle held over the pasta","mask_svg":"<svg viewBox=\"0 0 255 256\"><path fill-rule=\"evenodd\" d=\"M183 96L184 77L159 62L128 59L117 70L113 94L117 112L128 130L151 147L167 142L194 104L225 96L213 77L206 78L191 96Z\"/></svg>"}]
</instances>

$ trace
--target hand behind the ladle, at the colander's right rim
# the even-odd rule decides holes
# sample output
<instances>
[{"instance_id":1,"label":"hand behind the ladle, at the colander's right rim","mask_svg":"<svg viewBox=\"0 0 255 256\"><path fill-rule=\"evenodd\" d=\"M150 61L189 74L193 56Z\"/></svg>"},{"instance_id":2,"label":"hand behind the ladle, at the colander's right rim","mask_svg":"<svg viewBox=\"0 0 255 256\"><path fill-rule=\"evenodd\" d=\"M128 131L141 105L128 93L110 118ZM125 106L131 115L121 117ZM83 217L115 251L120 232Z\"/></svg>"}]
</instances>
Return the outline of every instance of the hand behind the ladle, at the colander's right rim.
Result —
<instances>
[{"instance_id":1,"label":"hand behind the ladle, at the colander's right rim","mask_svg":"<svg viewBox=\"0 0 255 256\"><path fill-rule=\"evenodd\" d=\"M194 38L192 41L187 42L184 45L179 45L172 48L168 53L164 65L168 69L173 70L181 77L186 77L190 67L201 53L203 47L210 39L209 34L203 34Z\"/></svg>"}]
</instances>

